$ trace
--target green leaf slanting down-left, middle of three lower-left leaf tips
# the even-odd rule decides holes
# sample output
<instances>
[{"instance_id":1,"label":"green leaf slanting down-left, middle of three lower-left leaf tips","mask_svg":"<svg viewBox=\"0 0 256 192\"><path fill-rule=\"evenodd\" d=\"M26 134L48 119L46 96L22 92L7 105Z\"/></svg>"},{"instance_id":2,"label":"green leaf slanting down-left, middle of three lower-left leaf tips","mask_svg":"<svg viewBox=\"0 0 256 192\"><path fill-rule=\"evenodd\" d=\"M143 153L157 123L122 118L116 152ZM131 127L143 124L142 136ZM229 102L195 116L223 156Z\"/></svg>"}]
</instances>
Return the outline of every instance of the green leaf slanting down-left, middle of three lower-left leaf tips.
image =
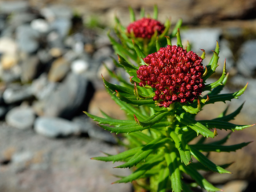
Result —
<instances>
[{"instance_id":1,"label":"green leaf slanting down-left, middle of three lower-left leaf tips","mask_svg":"<svg viewBox=\"0 0 256 192\"><path fill-rule=\"evenodd\" d=\"M166 138L164 136L158 137L145 145L140 151L138 151L128 162L123 165L119 165L114 168L131 168L132 166L137 165L143 159L145 160L149 154L151 154L156 149L162 147L165 143L170 142L170 138Z\"/></svg>"}]
</instances>

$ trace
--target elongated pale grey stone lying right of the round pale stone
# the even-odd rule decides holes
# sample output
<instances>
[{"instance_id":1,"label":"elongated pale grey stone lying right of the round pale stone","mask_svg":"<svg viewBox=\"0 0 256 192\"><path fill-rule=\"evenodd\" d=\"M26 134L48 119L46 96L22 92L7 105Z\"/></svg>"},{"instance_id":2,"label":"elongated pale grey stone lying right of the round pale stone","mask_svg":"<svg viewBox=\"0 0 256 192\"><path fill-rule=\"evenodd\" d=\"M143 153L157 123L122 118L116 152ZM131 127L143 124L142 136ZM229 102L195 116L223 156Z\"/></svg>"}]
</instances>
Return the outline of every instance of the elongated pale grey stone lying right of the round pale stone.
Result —
<instances>
[{"instance_id":1,"label":"elongated pale grey stone lying right of the round pale stone","mask_svg":"<svg viewBox=\"0 0 256 192\"><path fill-rule=\"evenodd\" d=\"M80 126L59 117L38 117L34 122L34 130L47 137L58 137L78 134Z\"/></svg>"}]
</instances>

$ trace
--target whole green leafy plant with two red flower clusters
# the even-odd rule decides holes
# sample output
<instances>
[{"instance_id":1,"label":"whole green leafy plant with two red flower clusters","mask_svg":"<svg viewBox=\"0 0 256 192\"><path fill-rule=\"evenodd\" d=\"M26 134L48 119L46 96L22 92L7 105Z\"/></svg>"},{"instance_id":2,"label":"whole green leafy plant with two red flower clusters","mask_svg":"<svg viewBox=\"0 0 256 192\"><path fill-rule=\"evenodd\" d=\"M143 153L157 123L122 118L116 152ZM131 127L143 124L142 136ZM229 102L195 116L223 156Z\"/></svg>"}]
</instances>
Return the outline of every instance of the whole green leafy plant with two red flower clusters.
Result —
<instances>
[{"instance_id":1,"label":"whole green leafy plant with two red flower clusters","mask_svg":"<svg viewBox=\"0 0 256 192\"><path fill-rule=\"evenodd\" d=\"M125 162L114 168L133 167L133 172L114 183L136 180L151 192L191 192L196 187L195 183L207 191L221 190L198 171L231 173L226 170L228 165L215 165L205 154L236 151L250 143L223 145L230 134L218 140L217 129L237 131L252 125L228 122L234 119L242 106L231 114L226 114L227 110L220 111L215 119L196 121L195 117L206 104L237 99L247 85L234 93L220 93L228 79L226 63L219 79L207 84L206 80L218 66L219 45L216 44L211 61L205 64L203 49L202 55L198 56L190 50L189 43L183 47L179 33L181 20L169 32L171 23L168 19L164 25L157 21L157 7L153 18L145 18L143 9L137 21L131 8L130 14L131 24L127 28L116 18L115 32L120 41L108 34L118 55L118 61L113 59L114 64L117 69L126 71L130 78L127 80L110 70L119 84L111 84L103 77L107 92L126 112L127 119L114 119L104 112L103 118L85 112L101 128L111 133L126 133L123 137L128 144L122 144L127 151L92 159ZM175 36L177 45L172 45L171 38ZM205 95L202 94L204 91L209 92ZM191 144L198 135L202 135L201 139ZM208 137L216 141L205 144ZM186 183L185 175L195 183ZM144 182L139 182L141 179Z\"/></svg>"}]
</instances>

